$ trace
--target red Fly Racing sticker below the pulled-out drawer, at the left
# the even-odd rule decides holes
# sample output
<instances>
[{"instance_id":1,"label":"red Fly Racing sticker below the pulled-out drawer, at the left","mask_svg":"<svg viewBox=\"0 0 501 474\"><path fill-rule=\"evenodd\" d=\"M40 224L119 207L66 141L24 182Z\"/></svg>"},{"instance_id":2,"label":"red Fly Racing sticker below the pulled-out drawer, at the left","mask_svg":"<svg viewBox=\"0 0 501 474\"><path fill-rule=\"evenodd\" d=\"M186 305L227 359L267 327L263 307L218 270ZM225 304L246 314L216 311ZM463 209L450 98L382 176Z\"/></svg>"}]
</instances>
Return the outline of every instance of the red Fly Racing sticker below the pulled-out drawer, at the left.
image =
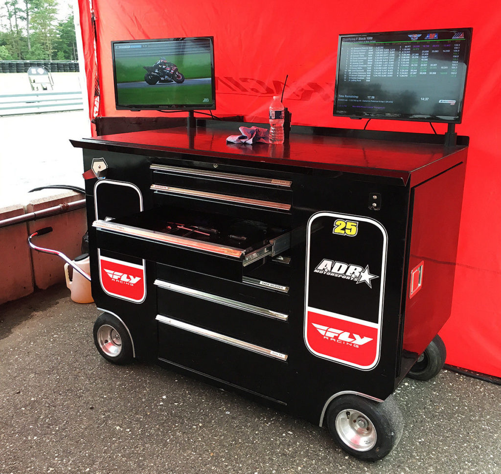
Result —
<instances>
[{"instance_id":1,"label":"red Fly Racing sticker below the pulled-out drawer, at the left","mask_svg":"<svg viewBox=\"0 0 501 474\"><path fill-rule=\"evenodd\" d=\"M142 303L146 297L144 261L136 265L99 253L99 278L102 289L110 296L134 303Z\"/></svg>"}]
</instances>

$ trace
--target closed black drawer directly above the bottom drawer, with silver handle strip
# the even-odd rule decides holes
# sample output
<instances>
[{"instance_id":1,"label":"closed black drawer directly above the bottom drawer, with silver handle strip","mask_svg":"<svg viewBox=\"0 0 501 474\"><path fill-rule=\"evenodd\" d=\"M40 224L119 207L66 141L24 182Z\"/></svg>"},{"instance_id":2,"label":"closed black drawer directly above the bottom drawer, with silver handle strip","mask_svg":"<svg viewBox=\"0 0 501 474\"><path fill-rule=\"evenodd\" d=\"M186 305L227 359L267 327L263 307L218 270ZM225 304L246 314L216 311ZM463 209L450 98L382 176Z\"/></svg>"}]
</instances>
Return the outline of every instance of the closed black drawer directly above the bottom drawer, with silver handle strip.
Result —
<instances>
[{"instance_id":1,"label":"closed black drawer directly above the bottom drawer, with silver handle strip","mask_svg":"<svg viewBox=\"0 0 501 474\"><path fill-rule=\"evenodd\" d=\"M158 312L257 346L289 352L288 314L156 280Z\"/></svg>"}]
</instances>

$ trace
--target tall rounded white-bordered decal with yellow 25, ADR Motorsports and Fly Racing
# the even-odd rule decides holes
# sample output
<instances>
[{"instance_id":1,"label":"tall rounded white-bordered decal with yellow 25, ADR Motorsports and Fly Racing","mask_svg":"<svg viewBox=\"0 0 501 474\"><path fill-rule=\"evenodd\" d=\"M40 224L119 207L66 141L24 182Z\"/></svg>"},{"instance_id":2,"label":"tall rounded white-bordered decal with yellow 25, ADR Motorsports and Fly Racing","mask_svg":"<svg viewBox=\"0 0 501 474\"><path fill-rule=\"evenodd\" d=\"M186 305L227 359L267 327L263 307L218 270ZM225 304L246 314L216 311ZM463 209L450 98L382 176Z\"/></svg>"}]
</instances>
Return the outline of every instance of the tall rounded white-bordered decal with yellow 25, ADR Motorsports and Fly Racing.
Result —
<instances>
[{"instance_id":1,"label":"tall rounded white-bordered decal with yellow 25, ADR Motorsports and Fly Racing","mask_svg":"<svg viewBox=\"0 0 501 474\"><path fill-rule=\"evenodd\" d=\"M314 355L361 370L379 362L387 240L368 217L308 221L304 339Z\"/></svg>"}]
</instances>

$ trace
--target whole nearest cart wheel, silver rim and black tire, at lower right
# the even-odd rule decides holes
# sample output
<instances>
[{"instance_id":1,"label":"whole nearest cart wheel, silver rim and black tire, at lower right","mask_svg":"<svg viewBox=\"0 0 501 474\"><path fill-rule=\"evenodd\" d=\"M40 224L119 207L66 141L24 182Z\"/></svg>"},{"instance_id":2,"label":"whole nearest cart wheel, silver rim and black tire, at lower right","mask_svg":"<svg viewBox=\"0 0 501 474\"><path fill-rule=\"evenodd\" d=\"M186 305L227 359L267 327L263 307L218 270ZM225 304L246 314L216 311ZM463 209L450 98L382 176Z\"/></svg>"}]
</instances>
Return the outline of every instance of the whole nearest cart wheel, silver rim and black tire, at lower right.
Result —
<instances>
[{"instance_id":1,"label":"whole nearest cart wheel, silver rim and black tire, at lower right","mask_svg":"<svg viewBox=\"0 0 501 474\"><path fill-rule=\"evenodd\" d=\"M327 425L334 441L345 451L365 461L376 461L398 444L403 418L391 395L384 402L342 395L329 405Z\"/></svg>"}]
</instances>

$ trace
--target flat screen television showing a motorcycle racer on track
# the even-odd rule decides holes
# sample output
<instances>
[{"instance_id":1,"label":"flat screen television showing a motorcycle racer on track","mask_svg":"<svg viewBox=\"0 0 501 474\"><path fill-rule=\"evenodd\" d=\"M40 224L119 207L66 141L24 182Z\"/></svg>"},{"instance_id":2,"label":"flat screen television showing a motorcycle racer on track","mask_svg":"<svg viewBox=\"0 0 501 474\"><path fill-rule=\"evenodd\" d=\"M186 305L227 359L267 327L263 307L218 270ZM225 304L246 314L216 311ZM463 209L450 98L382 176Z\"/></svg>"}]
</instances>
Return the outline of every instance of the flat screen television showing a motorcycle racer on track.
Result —
<instances>
[{"instance_id":1,"label":"flat screen television showing a motorcycle racer on track","mask_svg":"<svg viewBox=\"0 0 501 474\"><path fill-rule=\"evenodd\" d=\"M213 110L214 39L111 43L117 109Z\"/></svg>"}]
</instances>

